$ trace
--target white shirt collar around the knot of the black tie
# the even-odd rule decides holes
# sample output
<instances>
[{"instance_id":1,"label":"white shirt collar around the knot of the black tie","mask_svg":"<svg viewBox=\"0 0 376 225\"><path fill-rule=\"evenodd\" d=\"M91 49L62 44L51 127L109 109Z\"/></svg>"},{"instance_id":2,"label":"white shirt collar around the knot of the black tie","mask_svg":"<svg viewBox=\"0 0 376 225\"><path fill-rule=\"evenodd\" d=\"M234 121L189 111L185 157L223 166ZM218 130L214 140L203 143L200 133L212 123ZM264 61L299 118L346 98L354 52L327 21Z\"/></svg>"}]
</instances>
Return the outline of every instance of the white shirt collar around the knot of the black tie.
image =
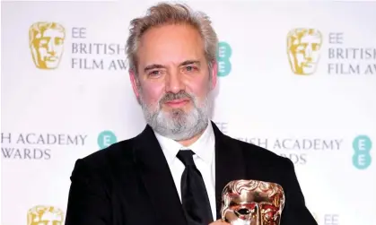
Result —
<instances>
[{"instance_id":1,"label":"white shirt collar around the knot of the black tie","mask_svg":"<svg viewBox=\"0 0 376 225\"><path fill-rule=\"evenodd\" d=\"M187 147L156 132L154 132L154 134L161 145L162 151L169 165L176 159L179 150L187 149L194 151L200 159L211 165L214 158L215 148L214 130L211 121L209 121L204 133L198 138L198 140Z\"/></svg>"}]
</instances>

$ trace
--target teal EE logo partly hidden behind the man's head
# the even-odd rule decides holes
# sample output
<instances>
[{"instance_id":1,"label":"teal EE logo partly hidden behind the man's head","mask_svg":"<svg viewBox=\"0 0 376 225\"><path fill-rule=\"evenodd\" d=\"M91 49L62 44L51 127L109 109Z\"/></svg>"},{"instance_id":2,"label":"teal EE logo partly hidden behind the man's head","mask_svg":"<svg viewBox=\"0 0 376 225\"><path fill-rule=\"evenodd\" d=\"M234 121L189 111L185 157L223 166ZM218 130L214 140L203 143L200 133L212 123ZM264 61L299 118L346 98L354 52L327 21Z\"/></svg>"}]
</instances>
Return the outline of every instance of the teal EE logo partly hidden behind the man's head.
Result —
<instances>
[{"instance_id":1,"label":"teal EE logo partly hidden behind the man's head","mask_svg":"<svg viewBox=\"0 0 376 225\"><path fill-rule=\"evenodd\" d=\"M219 42L217 49L218 76L227 76L232 70L232 48L227 42Z\"/></svg>"}]
</instances>

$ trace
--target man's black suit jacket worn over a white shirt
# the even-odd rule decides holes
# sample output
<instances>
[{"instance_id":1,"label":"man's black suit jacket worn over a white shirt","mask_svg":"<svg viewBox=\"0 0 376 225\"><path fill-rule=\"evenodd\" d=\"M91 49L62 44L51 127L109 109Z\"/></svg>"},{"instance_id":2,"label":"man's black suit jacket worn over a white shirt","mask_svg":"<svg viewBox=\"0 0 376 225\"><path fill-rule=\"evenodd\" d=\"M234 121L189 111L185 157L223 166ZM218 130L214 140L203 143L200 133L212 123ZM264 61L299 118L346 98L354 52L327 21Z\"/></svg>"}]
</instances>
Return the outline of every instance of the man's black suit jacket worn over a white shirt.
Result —
<instances>
[{"instance_id":1,"label":"man's black suit jacket worn over a white shirt","mask_svg":"<svg viewBox=\"0 0 376 225\"><path fill-rule=\"evenodd\" d=\"M281 225L317 225L304 203L291 160L221 133L214 123L216 214L223 187L234 179L283 186ZM153 130L77 160L66 225L185 225L171 171Z\"/></svg>"}]
</instances>

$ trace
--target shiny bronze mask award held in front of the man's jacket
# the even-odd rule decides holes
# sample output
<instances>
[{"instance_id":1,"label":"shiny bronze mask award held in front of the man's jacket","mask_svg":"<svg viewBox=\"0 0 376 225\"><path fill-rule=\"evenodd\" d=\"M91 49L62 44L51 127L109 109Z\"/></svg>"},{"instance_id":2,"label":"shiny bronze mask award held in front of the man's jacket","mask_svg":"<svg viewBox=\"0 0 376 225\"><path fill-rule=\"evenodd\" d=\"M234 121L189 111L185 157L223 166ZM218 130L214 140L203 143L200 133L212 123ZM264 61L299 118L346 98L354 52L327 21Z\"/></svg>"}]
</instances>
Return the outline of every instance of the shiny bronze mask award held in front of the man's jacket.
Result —
<instances>
[{"instance_id":1,"label":"shiny bronze mask award held in front of the man's jacket","mask_svg":"<svg viewBox=\"0 0 376 225\"><path fill-rule=\"evenodd\" d=\"M233 180L223 188L222 220L232 225L279 225L284 189L258 180Z\"/></svg>"}]
</instances>

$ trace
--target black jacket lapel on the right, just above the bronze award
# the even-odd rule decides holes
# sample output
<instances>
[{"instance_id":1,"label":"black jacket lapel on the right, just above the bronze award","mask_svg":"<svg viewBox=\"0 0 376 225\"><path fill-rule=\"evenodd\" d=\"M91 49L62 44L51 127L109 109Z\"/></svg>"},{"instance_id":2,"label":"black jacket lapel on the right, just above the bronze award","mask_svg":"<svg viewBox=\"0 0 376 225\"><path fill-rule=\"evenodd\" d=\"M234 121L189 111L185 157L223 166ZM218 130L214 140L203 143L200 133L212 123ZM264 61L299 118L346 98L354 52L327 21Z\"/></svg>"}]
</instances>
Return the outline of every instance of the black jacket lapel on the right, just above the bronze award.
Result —
<instances>
[{"instance_id":1,"label":"black jacket lapel on the right, just above the bronze award","mask_svg":"<svg viewBox=\"0 0 376 225\"><path fill-rule=\"evenodd\" d=\"M218 220L221 219L223 187L232 180L246 177L240 145L224 135L214 123L212 125L215 135L215 200Z\"/></svg>"}]
</instances>

